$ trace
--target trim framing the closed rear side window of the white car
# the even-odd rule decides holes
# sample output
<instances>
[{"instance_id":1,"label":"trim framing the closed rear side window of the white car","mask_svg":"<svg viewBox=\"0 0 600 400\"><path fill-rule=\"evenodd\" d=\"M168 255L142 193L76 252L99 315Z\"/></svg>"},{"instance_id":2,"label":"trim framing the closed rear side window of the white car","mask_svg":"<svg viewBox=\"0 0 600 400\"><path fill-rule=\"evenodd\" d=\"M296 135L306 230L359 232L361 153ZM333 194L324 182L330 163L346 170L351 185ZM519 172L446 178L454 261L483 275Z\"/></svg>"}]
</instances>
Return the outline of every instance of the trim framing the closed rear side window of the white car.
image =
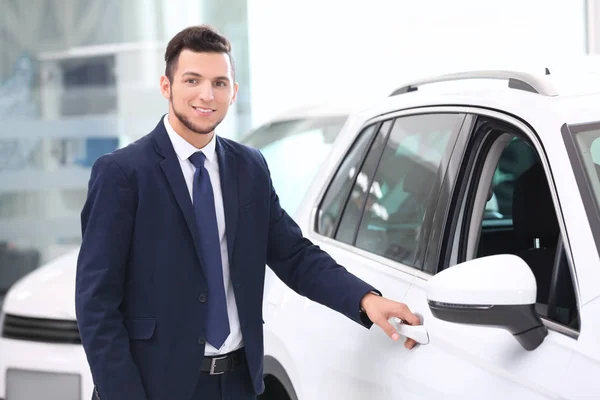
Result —
<instances>
[{"instance_id":1,"label":"trim framing the closed rear side window of the white car","mask_svg":"<svg viewBox=\"0 0 600 400\"><path fill-rule=\"evenodd\" d=\"M442 179L440 181L439 176L438 176L437 177L438 179L436 180L436 185L434 187L434 189L438 191L438 194L440 194L441 183L443 182L444 177L447 173L448 161L450 161L452 159L452 153L454 152L454 148L456 147L457 141L459 140L461 135L464 133L463 131L464 131L466 122L467 121L470 122L470 120L468 118L468 113L465 111L466 109L468 109L468 108L459 107L459 106L427 106L427 107L414 107L414 108L408 108L408 109L404 109L404 110L385 112L385 113L382 113L380 115L377 115L375 117L369 118L368 120L364 121L363 124L360 126L360 128L357 129L357 131L363 132L364 129L368 128L369 126L371 126L373 124L379 124L379 126L377 127L377 132L373 135L373 137L371 138L371 141L369 142L368 150L370 150L371 146L373 144L373 140L375 140L375 138L377 137L377 134L379 134L379 129L381 128L381 126L383 125L383 123L385 121L395 120L396 118L401 118L401 117L427 115L427 114L461 114L463 117L461 126L457 130L457 132L455 134L453 134L450 137L450 139L448 140L448 149L449 150L448 150L447 154L445 154L445 156L442 159L442 162L440 164L440 167L443 168L442 174L441 174ZM392 127L393 127L393 124L392 124ZM390 131L388 132L387 139L389 139L389 134L391 133L391 130L392 129L390 129ZM348 145L345 146L344 154L347 154L348 151L352 148L352 146L354 145L354 143L357 140L357 137L358 136L354 136L353 140L349 141ZM363 155L363 157L361 159L361 162L360 162L361 168L362 168L362 164L364 163L364 161L368 155L368 150L367 150L367 152L365 152L365 154ZM307 234L316 240L326 242L329 245L334 245L341 249L352 250L355 254L361 255L369 260L373 260L373 261L382 263L393 269L410 273L411 275L414 275L417 272L422 272L422 268L416 268L411 265L402 264L402 263L394 261L392 259L388 259L383 256L377 255L375 253L371 253L366 250L359 249L359 248L355 247L354 245L349 245L347 243L340 242L339 240L336 240L335 237L325 236L322 233L317 231L317 227L318 227L318 223L319 223L320 206L323 203L325 196L327 195L328 189L331 187L332 180L337 175L337 172L339 171L343 162L344 162L344 157L340 157L339 160L336 161L335 167L332 168L331 171L327 174L327 179L325 180L326 184L324 184L323 187L321 187L319 189L319 193L317 194L316 200L310 211L309 221L310 221L311 228L307 232ZM350 194L348 193L347 196L349 196L349 195ZM440 196L437 196L438 202L439 202L439 197ZM346 202L347 201L348 201L348 198L346 198ZM433 219L435 218L436 210L438 207L438 202L431 203L428 205L428 209L431 207L432 216L430 217L429 220L423 222L423 229L422 229L423 233L421 234L422 237L430 237L431 236ZM345 204L344 204L344 208L345 208ZM343 210L342 210L342 213L343 213ZM362 218L362 216L361 216L361 218ZM341 218L340 218L340 221L341 221ZM338 225L339 225L339 223L338 223ZM357 227L357 232L358 232L358 229L359 228ZM336 226L336 230L337 230L337 226ZM355 242L356 242L356 240L355 240ZM417 256L422 259L422 265L425 265L427 249L430 244L429 240L427 240L426 242L427 242L427 244L425 246L423 246L422 249L419 249L419 251L417 252Z\"/></svg>"}]
</instances>

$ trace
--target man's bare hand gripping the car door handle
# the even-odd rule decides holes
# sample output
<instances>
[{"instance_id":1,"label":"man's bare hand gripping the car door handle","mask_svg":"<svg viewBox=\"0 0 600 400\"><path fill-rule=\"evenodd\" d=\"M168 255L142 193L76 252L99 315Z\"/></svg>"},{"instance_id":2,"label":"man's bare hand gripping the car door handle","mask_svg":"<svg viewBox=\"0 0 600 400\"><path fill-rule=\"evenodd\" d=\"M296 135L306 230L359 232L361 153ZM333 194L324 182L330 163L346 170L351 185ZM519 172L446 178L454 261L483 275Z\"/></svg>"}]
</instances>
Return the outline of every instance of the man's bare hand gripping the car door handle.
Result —
<instances>
[{"instance_id":1,"label":"man's bare hand gripping the car door handle","mask_svg":"<svg viewBox=\"0 0 600 400\"><path fill-rule=\"evenodd\" d=\"M385 297L378 296L373 293L367 293L360 301L360 306L367 313L369 319L383 331L396 341L400 339L400 335L396 329L388 322L392 317L397 317L402 320L402 323L408 325L421 325L419 317L413 314L404 303L398 303ZM407 338L404 342L404 347L412 349L417 342Z\"/></svg>"}]
</instances>

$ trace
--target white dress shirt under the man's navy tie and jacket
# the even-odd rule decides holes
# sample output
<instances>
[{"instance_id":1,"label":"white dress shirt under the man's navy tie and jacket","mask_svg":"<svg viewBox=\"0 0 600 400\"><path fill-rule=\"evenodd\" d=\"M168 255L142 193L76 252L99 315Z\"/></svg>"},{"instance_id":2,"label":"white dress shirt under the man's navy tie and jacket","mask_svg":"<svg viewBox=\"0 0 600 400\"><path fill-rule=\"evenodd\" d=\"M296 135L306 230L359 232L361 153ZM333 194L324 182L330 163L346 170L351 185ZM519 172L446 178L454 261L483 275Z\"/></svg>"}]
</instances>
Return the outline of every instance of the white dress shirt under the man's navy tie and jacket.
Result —
<instances>
[{"instance_id":1,"label":"white dress shirt under the man's navy tie and jacket","mask_svg":"<svg viewBox=\"0 0 600 400\"><path fill-rule=\"evenodd\" d=\"M204 354L207 356L213 356L216 354L226 354L242 347L243 339L242 331L240 329L240 319L235 303L235 295L233 293L233 285L231 283L231 277L229 275L229 257L227 253L227 238L225 236L225 212L223 209L223 192L221 190L219 164L217 162L217 153L215 151L217 141L215 139L215 135L213 135L212 140L204 148L199 150L192 146L184 138L179 136L177 132L175 132L175 130L169 123L168 117L168 114L165 115L163 122L165 124L165 128L167 129L167 133L169 134L169 138L171 139L171 143L173 144L173 148L175 149L175 153L177 153L179 165L181 165L181 171L183 172L183 177L185 178L185 183L188 187L190 199L192 199L192 201L194 198L192 193L194 172L196 172L196 167L194 167L194 165L190 160L188 160L188 158L197 151L202 151L202 153L204 153L204 155L206 156L204 166L208 170L208 175L210 176L210 183L212 185L215 197L215 210L217 212L217 225L219 229L219 241L221 244L223 282L225 283L225 296L227 298L227 314L229 316L230 334L220 349L215 349L212 345L210 345L207 342Z\"/></svg>"}]
</instances>

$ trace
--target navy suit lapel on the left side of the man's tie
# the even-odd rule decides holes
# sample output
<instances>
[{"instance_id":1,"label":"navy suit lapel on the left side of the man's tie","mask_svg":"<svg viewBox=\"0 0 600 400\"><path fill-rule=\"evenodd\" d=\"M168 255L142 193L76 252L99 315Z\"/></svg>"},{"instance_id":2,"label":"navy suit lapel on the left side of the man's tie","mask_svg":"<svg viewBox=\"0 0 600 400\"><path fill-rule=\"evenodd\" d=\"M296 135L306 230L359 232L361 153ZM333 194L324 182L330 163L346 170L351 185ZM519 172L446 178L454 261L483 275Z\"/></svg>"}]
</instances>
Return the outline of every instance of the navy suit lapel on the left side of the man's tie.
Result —
<instances>
[{"instance_id":1,"label":"navy suit lapel on the left side of the man's tie","mask_svg":"<svg viewBox=\"0 0 600 400\"><path fill-rule=\"evenodd\" d=\"M164 160L160 162L160 168L169 182L171 191L175 195L177 205L183 213L183 217L185 218L185 222L193 238L196 255L200 261L200 265L203 267L202 272L204 273L202 252L198 247L200 238L198 227L196 226L194 207L192 205L192 200L190 199L190 192L188 191L185 183L183 172L181 171L181 165L179 164L179 159L177 158L177 154L173 149L173 144L169 139L169 135L167 134L162 120L154 130L153 137L157 145L158 153L164 157Z\"/></svg>"}]
</instances>

